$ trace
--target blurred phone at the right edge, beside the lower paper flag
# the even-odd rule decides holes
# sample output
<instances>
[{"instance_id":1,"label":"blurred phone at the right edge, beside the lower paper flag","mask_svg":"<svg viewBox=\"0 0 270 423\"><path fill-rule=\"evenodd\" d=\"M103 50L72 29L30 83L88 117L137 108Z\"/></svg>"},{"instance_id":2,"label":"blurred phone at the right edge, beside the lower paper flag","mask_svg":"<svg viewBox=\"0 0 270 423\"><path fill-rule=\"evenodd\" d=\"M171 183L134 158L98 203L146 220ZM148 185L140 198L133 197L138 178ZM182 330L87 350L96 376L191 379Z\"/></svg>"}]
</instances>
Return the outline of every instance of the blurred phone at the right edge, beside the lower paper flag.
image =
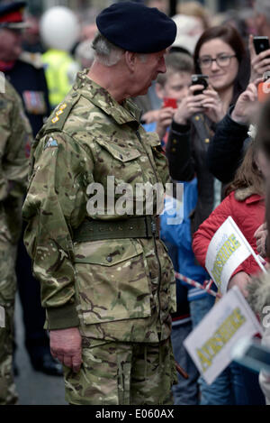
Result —
<instances>
[{"instance_id":1,"label":"blurred phone at the right edge, beside the lower paper flag","mask_svg":"<svg viewBox=\"0 0 270 423\"><path fill-rule=\"evenodd\" d=\"M265 370L270 373L270 347L261 345L259 341L242 338L231 351L232 359L248 369L260 372Z\"/></svg>"}]
</instances>

